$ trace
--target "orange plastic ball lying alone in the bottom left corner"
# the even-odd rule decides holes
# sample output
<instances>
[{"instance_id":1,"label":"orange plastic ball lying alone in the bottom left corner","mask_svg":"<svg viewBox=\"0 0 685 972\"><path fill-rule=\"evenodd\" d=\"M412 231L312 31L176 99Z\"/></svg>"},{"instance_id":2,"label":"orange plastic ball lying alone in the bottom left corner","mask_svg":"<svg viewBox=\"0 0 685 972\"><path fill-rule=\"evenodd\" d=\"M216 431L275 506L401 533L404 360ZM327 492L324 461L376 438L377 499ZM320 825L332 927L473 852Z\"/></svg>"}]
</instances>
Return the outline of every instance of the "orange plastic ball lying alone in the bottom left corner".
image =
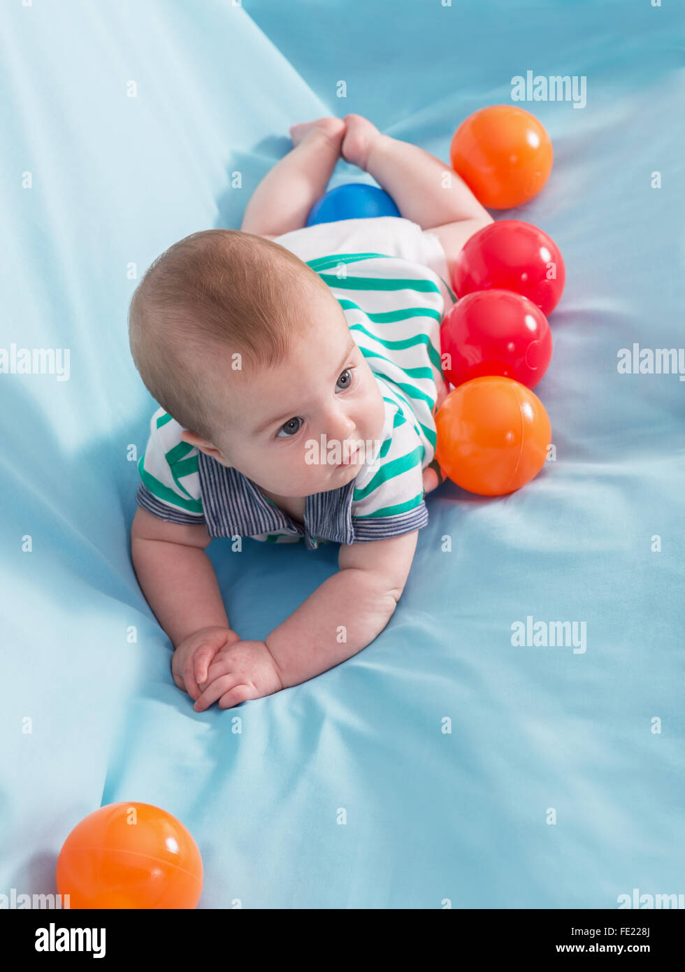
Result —
<instances>
[{"instance_id":1,"label":"orange plastic ball lying alone in the bottom left corner","mask_svg":"<svg viewBox=\"0 0 685 972\"><path fill-rule=\"evenodd\" d=\"M150 803L111 803L64 841L57 891L71 908L196 908L202 859L175 816Z\"/></svg>"}]
</instances>

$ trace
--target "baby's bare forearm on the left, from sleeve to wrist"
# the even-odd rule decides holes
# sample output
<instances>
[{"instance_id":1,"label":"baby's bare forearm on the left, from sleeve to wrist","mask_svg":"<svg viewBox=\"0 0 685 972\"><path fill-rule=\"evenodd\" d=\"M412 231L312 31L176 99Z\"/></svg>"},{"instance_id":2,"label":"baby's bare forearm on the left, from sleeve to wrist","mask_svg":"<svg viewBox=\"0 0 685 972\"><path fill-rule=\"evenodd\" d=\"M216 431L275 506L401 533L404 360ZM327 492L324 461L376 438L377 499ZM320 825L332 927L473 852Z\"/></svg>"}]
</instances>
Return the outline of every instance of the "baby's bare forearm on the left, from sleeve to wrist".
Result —
<instances>
[{"instance_id":1,"label":"baby's bare forearm on the left, from sleeve to wrist","mask_svg":"<svg viewBox=\"0 0 685 972\"><path fill-rule=\"evenodd\" d=\"M203 628L228 629L219 581L205 553L204 524L161 520L139 506L131 526L131 560L143 594L177 648Z\"/></svg>"}]
</instances>

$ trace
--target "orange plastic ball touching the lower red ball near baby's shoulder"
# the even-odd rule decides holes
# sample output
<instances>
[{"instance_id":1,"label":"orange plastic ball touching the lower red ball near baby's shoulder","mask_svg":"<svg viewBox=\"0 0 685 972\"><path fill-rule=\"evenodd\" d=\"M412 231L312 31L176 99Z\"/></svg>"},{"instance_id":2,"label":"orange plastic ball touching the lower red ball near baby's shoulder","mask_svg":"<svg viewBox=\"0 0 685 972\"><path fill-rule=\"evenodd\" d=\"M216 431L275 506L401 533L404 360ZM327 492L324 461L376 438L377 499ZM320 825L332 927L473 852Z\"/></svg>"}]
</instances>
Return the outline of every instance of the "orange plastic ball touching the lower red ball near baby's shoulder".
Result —
<instances>
[{"instance_id":1,"label":"orange plastic ball touching the lower red ball near baby's shoulder","mask_svg":"<svg viewBox=\"0 0 685 972\"><path fill-rule=\"evenodd\" d=\"M462 489L503 496L542 469L552 430L545 407L513 378L464 382L435 415L440 467Z\"/></svg>"}]
</instances>

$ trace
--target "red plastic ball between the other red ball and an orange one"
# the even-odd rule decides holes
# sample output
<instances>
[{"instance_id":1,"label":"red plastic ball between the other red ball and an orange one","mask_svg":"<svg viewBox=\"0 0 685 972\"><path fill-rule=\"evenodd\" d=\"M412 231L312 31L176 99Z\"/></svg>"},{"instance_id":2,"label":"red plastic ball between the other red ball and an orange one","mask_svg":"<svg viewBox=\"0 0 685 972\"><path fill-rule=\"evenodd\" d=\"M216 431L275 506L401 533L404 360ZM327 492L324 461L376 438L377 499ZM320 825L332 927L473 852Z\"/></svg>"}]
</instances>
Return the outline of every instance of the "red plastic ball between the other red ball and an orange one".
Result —
<instances>
[{"instance_id":1,"label":"red plastic ball between the other red ball and an orange one","mask_svg":"<svg viewBox=\"0 0 685 972\"><path fill-rule=\"evenodd\" d=\"M512 291L477 291L442 322L443 370L453 385L499 374L534 388L552 357L552 333L539 307Z\"/></svg>"}]
</instances>

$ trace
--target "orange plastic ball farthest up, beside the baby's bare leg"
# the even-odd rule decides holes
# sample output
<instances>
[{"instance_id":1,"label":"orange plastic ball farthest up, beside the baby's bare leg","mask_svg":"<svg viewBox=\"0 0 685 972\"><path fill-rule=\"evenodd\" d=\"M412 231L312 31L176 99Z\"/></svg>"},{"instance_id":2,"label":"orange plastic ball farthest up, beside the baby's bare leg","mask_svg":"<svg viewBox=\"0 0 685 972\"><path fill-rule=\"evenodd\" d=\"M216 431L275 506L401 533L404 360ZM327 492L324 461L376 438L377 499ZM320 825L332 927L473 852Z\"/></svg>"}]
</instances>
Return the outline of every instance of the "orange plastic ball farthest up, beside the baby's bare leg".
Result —
<instances>
[{"instance_id":1,"label":"orange plastic ball farthest up, beside the baby's bare leg","mask_svg":"<svg viewBox=\"0 0 685 972\"><path fill-rule=\"evenodd\" d=\"M552 142L534 115L514 105L481 108L462 121L450 146L452 168L488 209L520 206L552 171Z\"/></svg>"}]
</instances>

